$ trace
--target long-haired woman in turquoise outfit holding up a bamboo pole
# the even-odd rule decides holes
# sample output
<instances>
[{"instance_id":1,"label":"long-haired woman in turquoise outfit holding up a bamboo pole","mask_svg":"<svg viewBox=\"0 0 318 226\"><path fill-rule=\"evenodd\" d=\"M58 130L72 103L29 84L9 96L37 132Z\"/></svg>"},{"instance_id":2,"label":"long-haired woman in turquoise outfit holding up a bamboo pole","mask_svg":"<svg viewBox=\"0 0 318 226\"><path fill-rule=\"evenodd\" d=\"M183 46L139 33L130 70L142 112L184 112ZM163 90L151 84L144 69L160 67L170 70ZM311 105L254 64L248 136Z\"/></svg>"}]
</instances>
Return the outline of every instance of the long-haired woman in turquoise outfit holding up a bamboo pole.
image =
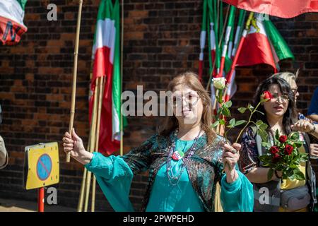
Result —
<instances>
[{"instance_id":1,"label":"long-haired woman in turquoise outfit holding up a bamboo pole","mask_svg":"<svg viewBox=\"0 0 318 226\"><path fill-rule=\"evenodd\" d=\"M240 144L224 143L211 124L211 98L195 73L168 85L172 93L163 127L124 156L89 153L75 131L65 133L64 151L93 172L116 211L134 211L129 191L134 175L149 170L141 211L214 211L216 183L225 211L252 211L252 184L237 168ZM223 167L227 162L227 167Z\"/></svg>"}]
</instances>

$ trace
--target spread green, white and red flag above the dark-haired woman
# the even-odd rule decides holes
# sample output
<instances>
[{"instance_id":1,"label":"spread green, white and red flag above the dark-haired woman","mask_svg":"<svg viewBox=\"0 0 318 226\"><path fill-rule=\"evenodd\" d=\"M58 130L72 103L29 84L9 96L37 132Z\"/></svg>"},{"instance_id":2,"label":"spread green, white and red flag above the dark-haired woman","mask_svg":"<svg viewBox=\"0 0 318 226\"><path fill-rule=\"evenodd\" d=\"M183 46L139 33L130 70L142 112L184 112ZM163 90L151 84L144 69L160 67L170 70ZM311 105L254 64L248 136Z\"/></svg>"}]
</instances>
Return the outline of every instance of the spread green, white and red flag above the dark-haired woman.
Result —
<instances>
[{"instance_id":1,"label":"spread green, white and red flag above the dark-haired woman","mask_svg":"<svg viewBox=\"0 0 318 226\"><path fill-rule=\"evenodd\" d=\"M279 71L278 61L294 59L288 45L272 23L266 23L263 16L254 13L252 23L242 44L242 51L236 66L252 66L255 64L269 64L274 71ZM284 54L278 54L283 52Z\"/></svg>"}]
</instances>

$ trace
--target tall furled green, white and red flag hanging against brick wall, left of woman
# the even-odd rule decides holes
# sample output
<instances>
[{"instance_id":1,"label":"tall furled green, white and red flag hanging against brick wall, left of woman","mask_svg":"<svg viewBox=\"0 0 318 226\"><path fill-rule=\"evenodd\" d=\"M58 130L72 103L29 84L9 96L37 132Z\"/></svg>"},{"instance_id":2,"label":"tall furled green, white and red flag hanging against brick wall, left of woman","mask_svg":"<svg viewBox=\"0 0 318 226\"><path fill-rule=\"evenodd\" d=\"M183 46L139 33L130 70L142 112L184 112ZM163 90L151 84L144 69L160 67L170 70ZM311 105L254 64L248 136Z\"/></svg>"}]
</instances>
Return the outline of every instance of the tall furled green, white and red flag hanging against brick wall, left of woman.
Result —
<instances>
[{"instance_id":1,"label":"tall furled green, white and red flag hanging against brick wall, left of woman","mask_svg":"<svg viewBox=\"0 0 318 226\"><path fill-rule=\"evenodd\" d=\"M98 151L107 155L119 150L120 147L122 81L119 35L119 2L117 0L113 6L111 0L102 0L93 44L93 78L90 89L93 93L96 78L105 76ZM94 98L93 95L90 97L90 119Z\"/></svg>"}]
</instances>

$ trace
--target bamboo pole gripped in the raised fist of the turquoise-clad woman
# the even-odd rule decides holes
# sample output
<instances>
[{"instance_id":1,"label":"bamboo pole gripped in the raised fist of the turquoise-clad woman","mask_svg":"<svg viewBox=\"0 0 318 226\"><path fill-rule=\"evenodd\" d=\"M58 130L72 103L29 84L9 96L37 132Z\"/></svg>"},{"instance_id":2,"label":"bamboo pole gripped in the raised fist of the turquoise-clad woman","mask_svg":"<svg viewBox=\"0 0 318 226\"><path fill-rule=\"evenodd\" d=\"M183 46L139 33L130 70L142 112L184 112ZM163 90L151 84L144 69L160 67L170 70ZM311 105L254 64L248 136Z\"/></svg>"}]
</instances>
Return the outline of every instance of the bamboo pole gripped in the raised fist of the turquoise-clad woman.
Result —
<instances>
[{"instance_id":1,"label":"bamboo pole gripped in the raised fist of the turquoise-clad woman","mask_svg":"<svg viewBox=\"0 0 318 226\"><path fill-rule=\"evenodd\" d=\"M72 98L71 98L71 112L70 112L70 119L69 119L69 134L72 134L74 114L75 114L78 43L79 43L79 34L80 34L80 29L81 29L82 6L83 6L83 0L79 0L77 27L76 27L75 52L74 52L74 65L73 65L73 85L72 85ZM70 160L71 160L71 153L67 153L66 154L66 162L70 162Z\"/></svg>"}]
</instances>

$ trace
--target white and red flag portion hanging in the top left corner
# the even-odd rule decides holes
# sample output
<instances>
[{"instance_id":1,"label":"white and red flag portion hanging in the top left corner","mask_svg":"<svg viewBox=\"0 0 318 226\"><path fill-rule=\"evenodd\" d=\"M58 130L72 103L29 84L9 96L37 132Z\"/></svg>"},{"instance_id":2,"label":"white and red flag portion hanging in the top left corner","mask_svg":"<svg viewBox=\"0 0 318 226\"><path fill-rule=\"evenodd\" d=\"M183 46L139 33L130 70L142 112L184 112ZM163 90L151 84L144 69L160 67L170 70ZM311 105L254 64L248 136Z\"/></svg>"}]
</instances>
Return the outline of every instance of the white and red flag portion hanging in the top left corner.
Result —
<instances>
[{"instance_id":1,"label":"white and red flag portion hanging in the top left corner","mask_svg":"<svg viewBox=\"0 0 318 226\"><path fill-rule=\"evenodd\" d=\"M1 44L18 44L21 36L28 30L23 23L24 8L27 1L28 0L0 1Z\"/></svg>"}]
</instances>

